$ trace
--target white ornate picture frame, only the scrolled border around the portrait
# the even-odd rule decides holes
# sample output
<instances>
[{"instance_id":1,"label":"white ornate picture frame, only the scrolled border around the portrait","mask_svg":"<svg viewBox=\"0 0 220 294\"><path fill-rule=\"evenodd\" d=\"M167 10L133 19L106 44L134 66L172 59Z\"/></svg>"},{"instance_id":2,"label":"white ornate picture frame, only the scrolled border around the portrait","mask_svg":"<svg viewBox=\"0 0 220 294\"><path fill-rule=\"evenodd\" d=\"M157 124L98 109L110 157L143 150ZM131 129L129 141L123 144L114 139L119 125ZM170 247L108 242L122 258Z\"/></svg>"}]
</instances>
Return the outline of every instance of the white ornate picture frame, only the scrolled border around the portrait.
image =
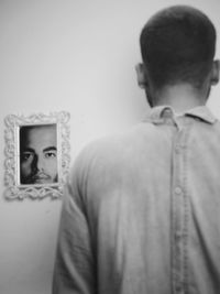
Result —
<instances>
[{"instance_id":1,"label":"white ornate picture frame, only the scrolled border around the portrait","mask_svg":"<svg viewBox=\"0 0 220 294\"><path fill-rule=\"evenodd\" d=\"M69 170L70 143L69 143L69 118L67 111L51 112L48 115L35 113L30 117L9 115L4 119L6 131L6 160L4 160L4 196L8 199L59 198L63 195L63 186ZM57 129L57 160L58 182L53 184L20 184L20 138L19 131L23 126L56 124Z\"/></svg>"}]
</instances>

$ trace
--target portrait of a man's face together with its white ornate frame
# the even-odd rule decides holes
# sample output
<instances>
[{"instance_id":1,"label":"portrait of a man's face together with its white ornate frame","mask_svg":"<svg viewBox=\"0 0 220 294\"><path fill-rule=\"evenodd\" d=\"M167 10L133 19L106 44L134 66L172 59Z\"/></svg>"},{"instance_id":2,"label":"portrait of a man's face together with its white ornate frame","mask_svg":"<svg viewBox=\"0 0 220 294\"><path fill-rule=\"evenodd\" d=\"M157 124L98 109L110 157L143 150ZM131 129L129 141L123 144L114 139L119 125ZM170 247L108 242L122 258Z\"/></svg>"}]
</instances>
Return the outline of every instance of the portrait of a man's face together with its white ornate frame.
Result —
<instances>
[{"instance_id":1,"label":"portrait of a man's face together with its white ornate frame","mask_svg":"<svg viewBox=\"0 0 220 294\"><path fill-rule=\"evenodd\" d=\"M62 196L70 163L69 117L66 111L6 117L7 198Z\"/></svg>"}]
</instances>

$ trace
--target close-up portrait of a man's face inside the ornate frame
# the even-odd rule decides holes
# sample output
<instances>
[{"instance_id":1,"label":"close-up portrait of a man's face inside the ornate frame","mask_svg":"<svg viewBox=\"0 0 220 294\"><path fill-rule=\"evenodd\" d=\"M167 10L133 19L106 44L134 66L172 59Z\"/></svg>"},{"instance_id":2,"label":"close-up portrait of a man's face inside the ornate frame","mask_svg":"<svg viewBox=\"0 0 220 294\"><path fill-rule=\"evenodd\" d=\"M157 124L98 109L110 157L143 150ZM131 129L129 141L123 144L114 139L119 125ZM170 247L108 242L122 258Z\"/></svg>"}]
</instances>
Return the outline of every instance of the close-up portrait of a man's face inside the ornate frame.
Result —
<instances>
[{"instance_id":1,"label":"close-up portrait of a man's face inside the ornate frame","mask_svg":"<svg viewBox=\"0 0 220 294\"><path fill-rule=\"evenodd\" d=\"M21 127L21 184L57 183L57 177L56 124Z\"/></svg>"}]
</instances>

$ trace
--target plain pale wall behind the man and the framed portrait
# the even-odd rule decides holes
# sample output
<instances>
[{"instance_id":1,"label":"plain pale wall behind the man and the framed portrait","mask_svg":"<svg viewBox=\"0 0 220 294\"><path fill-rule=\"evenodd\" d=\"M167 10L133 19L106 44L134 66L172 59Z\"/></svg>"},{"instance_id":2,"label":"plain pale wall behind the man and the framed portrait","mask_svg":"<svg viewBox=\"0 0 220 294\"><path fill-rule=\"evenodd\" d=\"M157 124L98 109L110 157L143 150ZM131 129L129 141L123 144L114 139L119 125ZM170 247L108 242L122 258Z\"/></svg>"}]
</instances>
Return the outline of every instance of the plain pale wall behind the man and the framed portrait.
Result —
<instances>
[{"instance_id":1,"label":"plain pale wall behind the man and the framed portrait","mask_svg":"<svg viewBox=\"0 0 220 294\"><path fill-rule=\"evenodd\" d=\"M68 110L73 160L148 107L138 88L139 34L175 0L0 0L0 293L48 294L61 200L3 198L3 118ZM219 0L187 0L220 32ZM219 46L217 56L220 57ZM220 117L220 87L210 107Z\"/></svg>"}]
</instances>

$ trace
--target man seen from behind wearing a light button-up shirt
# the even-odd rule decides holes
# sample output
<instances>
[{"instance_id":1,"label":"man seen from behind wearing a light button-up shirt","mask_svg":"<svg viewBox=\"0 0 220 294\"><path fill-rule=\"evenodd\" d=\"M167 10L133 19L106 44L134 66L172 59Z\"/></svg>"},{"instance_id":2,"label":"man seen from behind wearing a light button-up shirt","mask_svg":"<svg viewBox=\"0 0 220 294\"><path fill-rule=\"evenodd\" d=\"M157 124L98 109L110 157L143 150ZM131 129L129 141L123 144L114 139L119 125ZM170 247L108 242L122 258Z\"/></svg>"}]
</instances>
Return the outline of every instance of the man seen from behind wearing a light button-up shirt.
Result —
<instances>
[{"instance_id":1,"label":"man seen from behind wearing a light button-up shirt","mask_svg":"<svg viewBox=\"0 0 220 294\"><path fill-rule=\"evenodd\" d=\"M190 7L143 28L138 79L153 107L76 160L64 199L54 294L220 292L216 31Z\"/></svg>"}]
</instances>

